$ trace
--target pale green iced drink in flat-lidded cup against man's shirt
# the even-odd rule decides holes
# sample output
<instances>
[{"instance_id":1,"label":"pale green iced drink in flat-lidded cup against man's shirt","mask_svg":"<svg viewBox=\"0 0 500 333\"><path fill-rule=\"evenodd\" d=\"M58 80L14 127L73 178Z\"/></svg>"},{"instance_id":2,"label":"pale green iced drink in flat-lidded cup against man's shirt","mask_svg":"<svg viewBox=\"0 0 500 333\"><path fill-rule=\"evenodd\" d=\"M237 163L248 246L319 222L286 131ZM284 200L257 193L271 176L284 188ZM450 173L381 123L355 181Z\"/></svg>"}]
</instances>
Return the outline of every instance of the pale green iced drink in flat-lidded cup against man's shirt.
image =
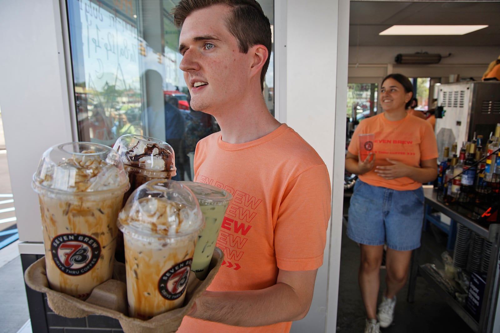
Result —
<instances>
[{"instance_id":1,"label":"pale green iced drink in flat-lidded cup against man's shirt","mask_svg":"<svg viewBox=\"0 0 500 333\"><path fill-rule=\"evenodd\" d=\"M200 182L179 182L189 187L194 193L205 218L205 228L199 233L191 265L191 271L198 279L203 280L208 274L208 265L215 249L220 225L232 195L219 187Z\"/></svg>"}]
</instances>

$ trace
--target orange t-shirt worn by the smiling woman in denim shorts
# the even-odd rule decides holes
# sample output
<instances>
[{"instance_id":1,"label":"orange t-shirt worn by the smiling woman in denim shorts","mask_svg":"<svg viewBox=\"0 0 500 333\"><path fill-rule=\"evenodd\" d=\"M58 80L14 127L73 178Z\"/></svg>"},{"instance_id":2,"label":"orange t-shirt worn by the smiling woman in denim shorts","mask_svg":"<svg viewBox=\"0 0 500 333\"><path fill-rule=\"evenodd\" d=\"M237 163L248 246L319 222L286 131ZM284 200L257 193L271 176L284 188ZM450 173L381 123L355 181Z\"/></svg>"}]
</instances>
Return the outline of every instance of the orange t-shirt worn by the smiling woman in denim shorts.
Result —
<instances>
[{"instance_id":1,"label":"orange t-shirt worn by the smiling woman in denim shorts","mask_svg":"<svg viewBox=\"0 0 500 333\"><path fill-rule=\"evenodd\" d=\"M426 120L407 114L398 121L387 120L384 113L363 119L354 130L347 150L356 155L359 151L358 134L375 134L373 150L375 166L392 165L386 158L400 161L406 165L419 167L420 160L437 158L437 144L432 126ZM374 168L359 175L362 181L397 190L417 189L422 184L400 177L384 179L375 173Z\"/></svg>"}]
</instances>

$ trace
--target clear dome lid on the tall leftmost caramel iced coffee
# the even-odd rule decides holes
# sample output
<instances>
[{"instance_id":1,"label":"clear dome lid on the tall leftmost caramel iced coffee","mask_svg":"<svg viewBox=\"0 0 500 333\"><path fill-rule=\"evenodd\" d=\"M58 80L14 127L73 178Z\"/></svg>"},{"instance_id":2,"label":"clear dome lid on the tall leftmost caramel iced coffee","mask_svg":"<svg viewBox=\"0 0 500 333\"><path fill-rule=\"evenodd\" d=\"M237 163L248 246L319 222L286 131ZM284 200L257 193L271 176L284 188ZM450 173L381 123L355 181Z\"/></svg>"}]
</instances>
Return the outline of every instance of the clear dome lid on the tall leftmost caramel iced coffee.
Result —
<instances>
[{"instance_id":1,"label":"clear dome lid on the tall leftmost caramel iced coffee","mask_svg":"<svg viewBox=\"0 0 500 333\"><path fill-rule=\"evenodd\" d=\"M92 142L67 142L51 146L41 156L33 174L33 189L62 193L108 190L125 192L128 176L116 151Z\"/></svg>"}]
</instances>

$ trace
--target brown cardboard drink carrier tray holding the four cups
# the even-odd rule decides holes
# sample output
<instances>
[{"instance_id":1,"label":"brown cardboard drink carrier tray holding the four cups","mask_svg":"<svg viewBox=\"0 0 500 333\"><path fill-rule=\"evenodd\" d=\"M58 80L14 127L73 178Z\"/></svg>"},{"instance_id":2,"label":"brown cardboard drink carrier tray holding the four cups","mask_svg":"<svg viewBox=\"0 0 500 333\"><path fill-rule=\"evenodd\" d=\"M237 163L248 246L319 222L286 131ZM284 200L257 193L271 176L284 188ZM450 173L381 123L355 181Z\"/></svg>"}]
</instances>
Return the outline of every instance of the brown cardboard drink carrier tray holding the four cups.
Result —
<instances>
[{"instance_id":1,"label":"brown cardboard drink carrier tray holding the four cups","mask_svg":"<svg viewBox=\"0 0 500 333\"><path fill-rule=\"evenodd\" d=\"M125 333L175 332L196 298L215 277L223 257L222 251L215 247L207 277L201 281L196 278L194 273L189 274L183 306L155 315L149 320L128 316L125 265L118 261L114 261L112 278L97 285L86 300L49 288L45 271L45 257L33 262L26 269L24 280L31 289L46 293L48 306L56 314L63 317L79 318L88 314L99 314L117 319Z\"/></svg>"}]
</instances>

